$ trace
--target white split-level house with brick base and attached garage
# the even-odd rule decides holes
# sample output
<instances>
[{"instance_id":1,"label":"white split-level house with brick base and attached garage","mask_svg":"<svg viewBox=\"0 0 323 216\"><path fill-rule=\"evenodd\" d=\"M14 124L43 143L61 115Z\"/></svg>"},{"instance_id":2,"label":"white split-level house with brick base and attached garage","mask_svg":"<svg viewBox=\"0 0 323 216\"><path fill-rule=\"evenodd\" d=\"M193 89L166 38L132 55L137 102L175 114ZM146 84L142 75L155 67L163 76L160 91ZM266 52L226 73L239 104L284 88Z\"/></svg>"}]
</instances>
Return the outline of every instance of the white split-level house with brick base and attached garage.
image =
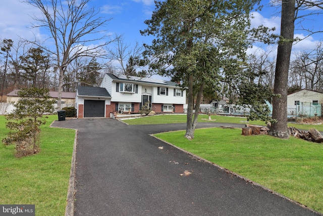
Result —
<instances>
[{"instance_id":1,"label":"white split-level house with brick base and attached garage","mask_svg":"<svg viewBox=\"0 0 323 216\"><path fill-rule=\"evenodd\" d=\"M76 92L79 118L139 113L145 103L155 113L183 113L186 91L176 82L105 73L100 87L79 86Z\"/></svg>"}]
</instances>

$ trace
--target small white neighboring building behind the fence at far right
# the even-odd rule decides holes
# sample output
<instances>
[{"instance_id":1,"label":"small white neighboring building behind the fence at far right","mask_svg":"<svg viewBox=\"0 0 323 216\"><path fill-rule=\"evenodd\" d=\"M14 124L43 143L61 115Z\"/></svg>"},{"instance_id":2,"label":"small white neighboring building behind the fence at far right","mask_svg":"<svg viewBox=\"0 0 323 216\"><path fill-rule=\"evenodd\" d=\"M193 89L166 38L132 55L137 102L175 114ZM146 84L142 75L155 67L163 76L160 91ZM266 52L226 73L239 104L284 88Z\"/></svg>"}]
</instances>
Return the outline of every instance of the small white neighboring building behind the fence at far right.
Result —
<instances>
[{"instance_id":1,"label":"small white neighboring building behind the fence at far right","mask_svg":"<svg viewBox=\"0 0 323 216\"><path fill-rule=\"evenodd\" d=\"M321 116L323 93L300 90L287 96L287 114L296 116Z\"/></svg>"}]
</instances>

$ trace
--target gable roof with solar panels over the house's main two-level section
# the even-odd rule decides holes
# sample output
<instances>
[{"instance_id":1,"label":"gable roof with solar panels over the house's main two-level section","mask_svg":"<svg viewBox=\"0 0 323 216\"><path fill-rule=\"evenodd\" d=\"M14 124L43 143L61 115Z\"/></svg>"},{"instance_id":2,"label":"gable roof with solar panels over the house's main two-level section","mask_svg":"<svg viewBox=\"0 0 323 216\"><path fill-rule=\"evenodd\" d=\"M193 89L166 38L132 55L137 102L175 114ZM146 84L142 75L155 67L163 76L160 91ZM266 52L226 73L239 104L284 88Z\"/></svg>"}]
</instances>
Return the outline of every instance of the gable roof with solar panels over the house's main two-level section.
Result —
<instances>
[{"instance_id":1,"label":"gable roof with solar panels over the house's main two-level section","mask_svg":"<svg viewBox=\"0 0 323 216\"><path fill-rule=\"evenodd\" d=\"M133 82L140 82L140 83L149 83L149 84L156 84L156 85L169 85L171 87L178 87L178 83L172 81L166 81L161 79L154 79L149 77L138 77L138 76L127 76L123 74L112 74L106 73L106 75L110 76L114 81L133 81Z\"/></svg>"}]
</instances>

